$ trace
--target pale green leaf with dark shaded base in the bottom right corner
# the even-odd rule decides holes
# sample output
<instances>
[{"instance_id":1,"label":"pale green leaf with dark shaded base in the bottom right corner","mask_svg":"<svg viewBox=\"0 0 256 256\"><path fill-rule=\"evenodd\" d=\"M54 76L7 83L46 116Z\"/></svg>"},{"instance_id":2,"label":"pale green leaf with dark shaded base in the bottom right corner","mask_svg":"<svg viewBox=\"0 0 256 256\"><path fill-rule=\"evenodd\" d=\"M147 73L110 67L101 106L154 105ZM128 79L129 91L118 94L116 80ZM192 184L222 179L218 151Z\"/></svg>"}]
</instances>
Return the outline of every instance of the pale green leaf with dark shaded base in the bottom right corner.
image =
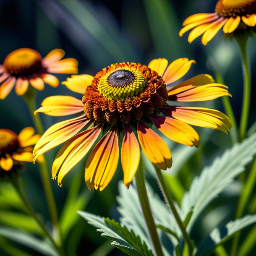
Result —
<instances>
[{"instance_id":1,"label":"pale green leaf with dark shaded base in the bottom right corner","mask_svg":"<svg viewBox=\"0 0 256 256\"><path fill-rule=\"evenodd\" d=\"M243 218L230 221L221 230L214 228L209 236L203 240L196 252L196 256L207 256L212 253L215 248L225 243L230 239L236 232L256 222L256 214L246 215Z\"/></svg>"}]
</instances>

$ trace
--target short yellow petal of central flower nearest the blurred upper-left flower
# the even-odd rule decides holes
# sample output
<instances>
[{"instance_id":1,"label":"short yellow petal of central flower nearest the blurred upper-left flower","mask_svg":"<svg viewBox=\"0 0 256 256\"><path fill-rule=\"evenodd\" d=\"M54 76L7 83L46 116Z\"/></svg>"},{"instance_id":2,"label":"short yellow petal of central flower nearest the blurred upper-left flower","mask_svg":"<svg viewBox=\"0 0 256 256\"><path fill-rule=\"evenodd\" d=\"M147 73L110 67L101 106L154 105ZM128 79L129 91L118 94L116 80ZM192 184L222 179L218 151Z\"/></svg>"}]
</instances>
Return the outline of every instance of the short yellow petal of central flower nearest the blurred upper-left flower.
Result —
<instances>
[{"instance_id":1,"label":"short yellow petal of central flower nearest the blurred upper-left flower","mask_svg":"<svg viewBox=\"0 0 256 256\"><path fill-rule=\"evenodd\" d=\"M71 91L84 94L87 86L91 84L93 76L91 75L73 75L68 77L66 81L62 82Z\"/></svg>"}]
</instances>

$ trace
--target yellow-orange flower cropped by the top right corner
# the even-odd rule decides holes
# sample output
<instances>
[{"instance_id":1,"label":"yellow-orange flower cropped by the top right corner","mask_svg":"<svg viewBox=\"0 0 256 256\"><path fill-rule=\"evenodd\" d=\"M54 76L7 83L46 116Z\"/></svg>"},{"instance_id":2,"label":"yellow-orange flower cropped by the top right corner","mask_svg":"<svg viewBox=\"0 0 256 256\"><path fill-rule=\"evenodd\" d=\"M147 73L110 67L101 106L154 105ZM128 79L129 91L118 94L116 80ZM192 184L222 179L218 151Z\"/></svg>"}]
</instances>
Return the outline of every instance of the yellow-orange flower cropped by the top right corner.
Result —
<instances>
[{"instance_id":1,"label":"yellow-orange flower cropped by the top right corner","mask_svg":"<svg viewBox=\"0 0 256 256\"><path fill-rule=\"evenodd\" d=\"M254 27L256 25L256 0L219 0L214 13L198 13L189 16L183 22L180 37L189 30L188 42L202 37L206 45L223 27L225 34L232 33L238 26Z\"/></svg>"}]
</instances>

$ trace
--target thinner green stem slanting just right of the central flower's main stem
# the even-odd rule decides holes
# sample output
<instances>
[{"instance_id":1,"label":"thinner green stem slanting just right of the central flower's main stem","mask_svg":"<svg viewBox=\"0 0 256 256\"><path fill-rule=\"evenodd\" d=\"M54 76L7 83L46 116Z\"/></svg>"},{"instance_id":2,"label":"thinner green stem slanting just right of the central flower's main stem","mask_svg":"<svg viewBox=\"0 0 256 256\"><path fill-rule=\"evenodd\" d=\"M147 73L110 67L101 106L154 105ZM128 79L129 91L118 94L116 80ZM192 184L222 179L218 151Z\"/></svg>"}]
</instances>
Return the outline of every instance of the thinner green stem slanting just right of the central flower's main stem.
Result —
<instances>
[{"instance_id":1,"label":"thinner green stem slanting just right of the central flower's main stem","mask_svg":"<svg viewBox=\"0 0 256 256\"><path fill-rule=\"evenodd\" d=\"M180 227L180 230L181 230L181 232L183 234L183 237L184 237L186 243L188 244L189 255L193 255L193 251L194 251L195 246L193 245L193 242L190 239L190 237L189 237L189 235L188 235L188 233L187 233L187 231L186 231L186 229L185 229L185 227L183 225L182 220L180 219L180 216L179 216L179 214L178 214L178 212L177 212L177 210L175 208L175 205L172 202L172 197L171 197L171 195L169 193L169 190L168 190L167 185L165 183L165 179L164 179L164 177L162 175L162 172L156 166L155 166L155 170L157 172L157 177L158 177L159 183L161 185L161 189L162 189L163 195L165 196L165 199L168 202L168 204L170 206L170 209L172 210L173 216L175 217L175 219L176 219L176 221L177 221L177 223L178 223L178 225Z\"/></svg>"}]
</instances>

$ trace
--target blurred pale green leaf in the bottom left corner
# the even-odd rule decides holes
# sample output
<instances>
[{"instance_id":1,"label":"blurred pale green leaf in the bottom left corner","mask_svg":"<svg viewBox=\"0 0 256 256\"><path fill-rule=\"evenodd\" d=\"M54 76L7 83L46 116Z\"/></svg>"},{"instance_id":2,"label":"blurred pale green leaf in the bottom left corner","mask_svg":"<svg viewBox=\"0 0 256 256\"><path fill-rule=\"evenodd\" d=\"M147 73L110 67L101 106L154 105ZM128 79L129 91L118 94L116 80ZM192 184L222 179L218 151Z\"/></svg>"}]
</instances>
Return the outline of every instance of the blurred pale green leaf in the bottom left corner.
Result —
<instances>
[{"instance_id":1,"label":"blurred pale green leaf in the bottom left corner","mask_svg":"<svg viewBox=\"0 0 256 256\"><path fill-rule=\"evenodd\" d=\"M45 240L38 239L24 231L1 227L0 235L3 235L5 238L9 238L10 240L13 240L31 249L34 249L35 251L38 251L44 255L58 256L58 253L55 251L55 249L52 248L52 246Z\"/></svg>"}]
</instances>

